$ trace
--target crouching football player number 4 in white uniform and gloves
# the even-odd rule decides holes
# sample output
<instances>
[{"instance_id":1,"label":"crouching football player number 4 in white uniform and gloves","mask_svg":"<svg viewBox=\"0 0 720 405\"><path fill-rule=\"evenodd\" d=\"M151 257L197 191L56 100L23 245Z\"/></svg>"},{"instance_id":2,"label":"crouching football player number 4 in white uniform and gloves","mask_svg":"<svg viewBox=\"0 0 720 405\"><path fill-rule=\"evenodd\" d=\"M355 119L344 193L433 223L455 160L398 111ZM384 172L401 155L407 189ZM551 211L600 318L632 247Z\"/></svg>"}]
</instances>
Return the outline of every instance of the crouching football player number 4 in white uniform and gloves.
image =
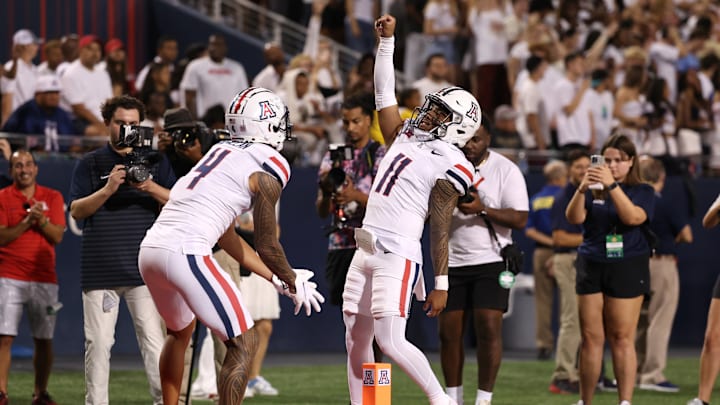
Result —
<instances>
[{"instance_id":1,"label":"crouching football player number 4 in white uniform and gloves","mask_svg":"<svg viewBox=\"0 0 720 405\"><path fill-rule=\"evenodd\" d=\"M220 404L239 404L245 393L257 334L240 291L213 259L216 242L290 296L296 314L301 307L308 316L311 308L320 311L324 301L309 281L312 272L290 267L277 235L275 204L290 179L290 166L278 153L290 136L285 104L270 90L250 87L230 103L225 122L231 140L214 145L175 183L140 246L140 273L168 329L160 358L166 405L178 403L196 316L228 347ZM235 218L251 209L259 257L234 229Z\"/></svg>"}]
</instances>

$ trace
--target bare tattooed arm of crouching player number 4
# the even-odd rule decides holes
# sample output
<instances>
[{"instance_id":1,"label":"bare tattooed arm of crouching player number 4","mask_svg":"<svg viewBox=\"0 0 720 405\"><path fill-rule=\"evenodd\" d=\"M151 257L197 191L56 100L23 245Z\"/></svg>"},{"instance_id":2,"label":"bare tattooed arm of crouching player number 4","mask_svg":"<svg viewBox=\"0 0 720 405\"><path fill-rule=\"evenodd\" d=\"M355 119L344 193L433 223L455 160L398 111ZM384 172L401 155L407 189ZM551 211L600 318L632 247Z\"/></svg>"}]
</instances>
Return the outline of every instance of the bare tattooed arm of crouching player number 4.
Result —
<instances>
[{"instance_id":1,"label":"bare tattooed arm of crouching player number 4","mask_svg":"<svg viewBox=\"0 0 720 405\"><path fill-rule=\"evenodd\" d=\"M250 176L250 191L254 194L253 222L255 246L262 261L280 280L295 292L295 272L285 257L277 232L275 205L280 199L282 186L271 175L256 172Z\"/></svg>"}]
</instances>

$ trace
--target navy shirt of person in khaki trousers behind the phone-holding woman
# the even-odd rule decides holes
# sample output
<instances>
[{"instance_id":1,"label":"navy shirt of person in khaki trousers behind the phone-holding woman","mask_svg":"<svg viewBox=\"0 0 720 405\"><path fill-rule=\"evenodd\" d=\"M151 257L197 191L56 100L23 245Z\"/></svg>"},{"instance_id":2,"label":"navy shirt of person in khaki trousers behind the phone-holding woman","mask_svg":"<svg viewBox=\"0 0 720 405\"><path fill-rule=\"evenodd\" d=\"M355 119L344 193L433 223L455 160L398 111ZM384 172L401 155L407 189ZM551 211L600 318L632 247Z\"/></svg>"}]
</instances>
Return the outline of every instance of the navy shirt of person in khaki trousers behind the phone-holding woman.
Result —
<instances>
[{"instance_id":1,"label":"navy shirt of person in khaki trousers behind the phone-holding woman","mask_svg":"<svg viewBox=\"0 0 720 405\"><path fill-rule=\"evenodd\" d=\"M677 200L655 194L655 215L650 221L650 229L658 238L656 254L677 255L675 238L690 223L687 209L678 208Z\"/></svg>"}]
</instances>

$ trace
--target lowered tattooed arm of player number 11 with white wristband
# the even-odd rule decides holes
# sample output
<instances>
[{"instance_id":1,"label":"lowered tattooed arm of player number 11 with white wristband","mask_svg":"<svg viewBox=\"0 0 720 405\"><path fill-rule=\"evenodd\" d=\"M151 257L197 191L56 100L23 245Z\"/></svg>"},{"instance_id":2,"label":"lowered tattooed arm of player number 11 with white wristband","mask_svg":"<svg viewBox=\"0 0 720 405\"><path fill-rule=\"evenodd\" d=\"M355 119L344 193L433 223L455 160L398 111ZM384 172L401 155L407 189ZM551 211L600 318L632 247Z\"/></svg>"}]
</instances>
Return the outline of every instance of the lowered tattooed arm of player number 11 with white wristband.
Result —
<instances>
[{"instance_id":1,"label":"lowered tattooed arm of player number 11 with white wristband","mask_svg":"<svg viewBox=\"0 0 720 405\"><path fill-rule=\"evenodd\" d=\"M438 180L430 192L430 249L435 289L430 291L423 305L423 310L430 317L439 315L447 304L448 240L458 197L459 193L448 180Z\"/></svg>"}]
</instances>

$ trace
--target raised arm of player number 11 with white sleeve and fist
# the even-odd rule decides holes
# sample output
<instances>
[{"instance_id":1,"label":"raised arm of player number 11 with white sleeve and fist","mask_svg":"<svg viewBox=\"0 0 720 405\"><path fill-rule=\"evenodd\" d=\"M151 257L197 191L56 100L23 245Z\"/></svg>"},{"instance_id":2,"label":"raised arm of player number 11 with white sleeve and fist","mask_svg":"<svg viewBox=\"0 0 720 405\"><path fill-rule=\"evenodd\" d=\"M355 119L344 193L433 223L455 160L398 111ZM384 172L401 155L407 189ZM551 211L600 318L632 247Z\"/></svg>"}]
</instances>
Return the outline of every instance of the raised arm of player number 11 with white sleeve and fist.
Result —
<instances>
[{"instance_id":1,"label":"raised arm of player number 11 with white sleeve and fist","mask_svg":"<svg viewBox=\"0 0 720 405\"><path fill-rule=\"evenodd\" d=\"M378 123L385 145L390 147L402 127L402 118L395 98L395 17L384 15L375 21L375 29L380 37L375 56L375 107L378 110Z\"/></svg>"}]
</instances>

